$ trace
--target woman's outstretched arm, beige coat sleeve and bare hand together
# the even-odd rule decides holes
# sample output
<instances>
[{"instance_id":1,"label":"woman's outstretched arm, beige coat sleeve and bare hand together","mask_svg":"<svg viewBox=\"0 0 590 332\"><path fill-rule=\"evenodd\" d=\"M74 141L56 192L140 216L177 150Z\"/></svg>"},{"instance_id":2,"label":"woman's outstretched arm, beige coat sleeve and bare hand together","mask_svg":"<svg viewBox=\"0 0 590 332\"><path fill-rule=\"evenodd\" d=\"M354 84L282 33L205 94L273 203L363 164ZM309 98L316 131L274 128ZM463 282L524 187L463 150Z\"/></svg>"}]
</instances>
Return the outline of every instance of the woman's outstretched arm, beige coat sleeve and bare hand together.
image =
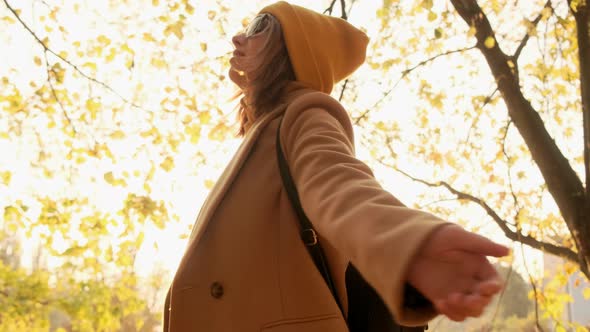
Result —
<instances>
[{"instance_id":1,"label":"woman's outstretched arm, beige coat sleeve and bare hand together","mask_svg":"<svg viewBox=\"0 0 590 332\"><path fill-rule=\"evenodd\" d=\"M283 150L316 230L355 264L401 324L423 324L437 312L456 320L479 315L500 289L486 255L506 250L495 244L491 253L468 250L480 243L474 234L405 207L385 191L354 157L349 121L341 107L292 109L285 115ZM442 246L465 239L467 248ZM476 271L478 282L470 279ZM439 275L441 282L433 282ZM404 306L407 282L435 308Z\"/></svg>"}]
</instances>

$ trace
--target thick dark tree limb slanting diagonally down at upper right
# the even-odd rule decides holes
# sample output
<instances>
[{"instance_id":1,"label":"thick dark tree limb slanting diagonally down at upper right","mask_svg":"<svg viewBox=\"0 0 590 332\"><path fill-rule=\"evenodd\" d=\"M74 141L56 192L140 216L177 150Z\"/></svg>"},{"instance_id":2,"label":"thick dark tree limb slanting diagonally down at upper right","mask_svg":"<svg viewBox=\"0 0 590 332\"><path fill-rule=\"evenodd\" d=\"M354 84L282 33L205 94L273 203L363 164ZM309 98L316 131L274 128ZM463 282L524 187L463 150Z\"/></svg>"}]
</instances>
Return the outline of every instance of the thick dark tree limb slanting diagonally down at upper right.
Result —
<instances>
[{"instance_id":1,"label":"thick dark tree limb slanting diagonally down at upper right","mask_svg":"<svg viewBox=\"0 0 590 332\"><path fill-rule=\"evenodd\" d=\"M497 41L493 47L486 47L485 41L488 38L495 38L494 31L477 2L451 0L451 3L463 20L475 27L477 48L488 62L498 90L506 103L508 114L526 142L547 183L549 192L555 199L570 232L574 235L579 229L576 223L579 218L579 209L583 204L582 182L547 132L538 112L522 94L518 77L509 64L510 58L502 52Z\"/></svg>"}]
</instances>

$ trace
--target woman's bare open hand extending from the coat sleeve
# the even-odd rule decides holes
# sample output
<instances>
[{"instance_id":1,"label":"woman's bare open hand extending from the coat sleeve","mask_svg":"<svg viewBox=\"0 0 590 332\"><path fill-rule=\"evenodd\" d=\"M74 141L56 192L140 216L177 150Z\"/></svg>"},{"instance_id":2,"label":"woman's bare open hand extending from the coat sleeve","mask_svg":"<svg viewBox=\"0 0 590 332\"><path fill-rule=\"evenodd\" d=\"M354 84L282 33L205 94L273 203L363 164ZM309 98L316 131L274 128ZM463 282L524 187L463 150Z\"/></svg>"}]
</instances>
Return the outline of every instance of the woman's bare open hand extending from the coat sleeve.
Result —
<instances>
[{"instance_id":1,"label":"woman's bare open hand extending from the coat sleeve","mask_svg":"<svg viewBox=\"0 0 590 332\"><path fill-rule=\"evenodd\" d=\"M407 281L454 321L477 317L503 281L486 256L506 256L509 249L449 224L437 229L413 259Z\"/></svg>"}]
</instances>

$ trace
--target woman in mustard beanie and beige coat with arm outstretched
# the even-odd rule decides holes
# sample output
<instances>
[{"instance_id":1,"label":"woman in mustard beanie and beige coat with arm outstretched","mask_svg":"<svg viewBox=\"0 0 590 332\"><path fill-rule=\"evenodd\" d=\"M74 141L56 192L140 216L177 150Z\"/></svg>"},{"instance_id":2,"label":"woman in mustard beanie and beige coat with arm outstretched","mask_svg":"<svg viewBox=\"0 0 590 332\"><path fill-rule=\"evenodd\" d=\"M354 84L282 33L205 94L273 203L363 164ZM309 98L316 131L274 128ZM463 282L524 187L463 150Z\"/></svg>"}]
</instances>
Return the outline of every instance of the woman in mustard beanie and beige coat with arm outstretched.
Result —
<instances>
[{"instance_id":1,"label":"woman in mustard beanie and beige coat with arm outstretched","mask_svg":"<svg viewBox=\"0 0 590 332\"><path fill-rule=\"evenodd\" d=\"M199 213L167 297L165 331L347 331L349 262L402 324L479 316L501 289L486 256L507 249L384 191L354 157L350 119L328 96L364 62L367 36L344 20L278 2L232 41L244 142ZM282 150L338 301L310 259L281 182L280 122ZM431 304L406 305L406 284Z\"/></svg>"}]
</instances>

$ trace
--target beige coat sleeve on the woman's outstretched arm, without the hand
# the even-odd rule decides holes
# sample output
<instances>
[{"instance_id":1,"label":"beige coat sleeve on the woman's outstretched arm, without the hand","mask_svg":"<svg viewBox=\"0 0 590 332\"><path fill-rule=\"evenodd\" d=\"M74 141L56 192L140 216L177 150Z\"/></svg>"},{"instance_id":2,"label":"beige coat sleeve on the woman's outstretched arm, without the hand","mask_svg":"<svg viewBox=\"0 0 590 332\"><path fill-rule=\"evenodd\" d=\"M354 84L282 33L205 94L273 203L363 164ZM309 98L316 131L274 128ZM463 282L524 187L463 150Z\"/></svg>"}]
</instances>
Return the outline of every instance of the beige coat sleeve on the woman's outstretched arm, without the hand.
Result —
<instances>
[{"instance_id":1,"label":"beige coat sleeve on the woman's outstretched arm, without the hand","mask_svg":"<svg viewBox=\"0 0 590 332\"><path fill-rule=\"evenodd\" d=\"M354 156L352 127L340 107L287 110L281 142L301 205L316 230L349 259L404 325L436 316L404 306L406 271L445 221L405 207Z\"/></svg>"}]
</instances>

